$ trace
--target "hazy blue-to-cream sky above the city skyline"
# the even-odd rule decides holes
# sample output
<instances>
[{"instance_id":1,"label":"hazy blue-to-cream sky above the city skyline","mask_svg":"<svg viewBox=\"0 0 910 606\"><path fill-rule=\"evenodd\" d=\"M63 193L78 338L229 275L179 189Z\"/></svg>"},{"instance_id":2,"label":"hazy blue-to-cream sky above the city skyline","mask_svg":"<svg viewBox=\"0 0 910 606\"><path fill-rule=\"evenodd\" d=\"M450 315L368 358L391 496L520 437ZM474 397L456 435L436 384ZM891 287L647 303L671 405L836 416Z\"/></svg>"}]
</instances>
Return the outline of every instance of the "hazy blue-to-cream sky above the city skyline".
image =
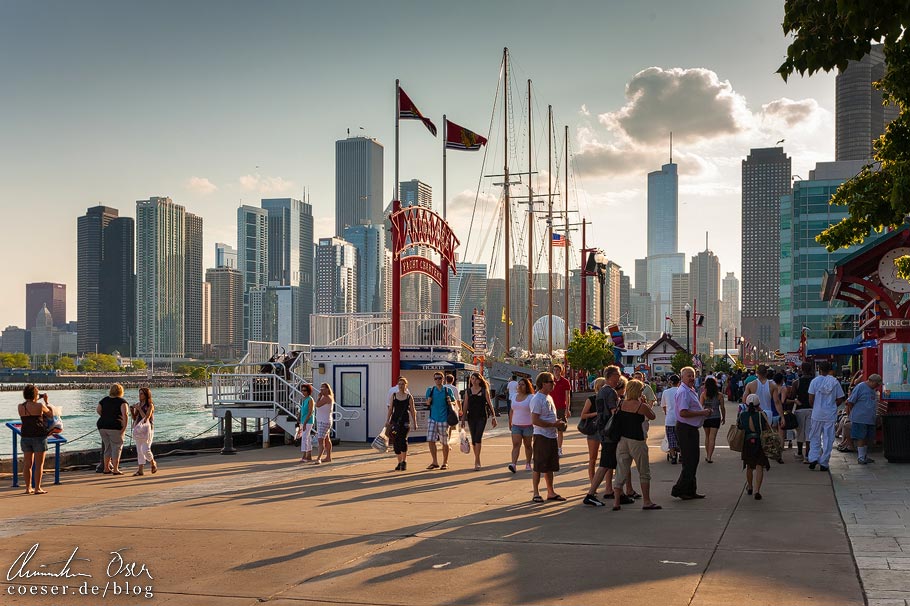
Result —
<instances>
[{"instance_id":1,"label":"hazy blue-to-cream sky above the city skyline","mask_svg":"<svg viewBox=\"0 0 910 606\"><path fill-rule=\"evenodd\" d=\"M462 258L501 273L501 179L484 175L502 172L503 47L511 170L527 171L531 79L535 191L547 188L549 105L559 183L569 127L569 204L573 222L591 221L589 246L634 273L647 173L668 161L673 131L680 251L704 250L708 232L721 271L739 276L749 149L785 139L804 177L834 159L834 76L775 74L782 19L767 0L0 0L0 327L24 324L28 282L65 283L76 318L76 220L90 206L135 216L137 200L171 197L203 217L206 267L215 242L235 243L236 208L264 197L305 191L316 237L331 236L348 129L383 144L391 200L396 78L438 126L447 114L490 135L486 152L449 152L447 206ZM430 184L437 210L441 156L440 139L402 123L400 177Z\"/></svg>"}]
</instances>

